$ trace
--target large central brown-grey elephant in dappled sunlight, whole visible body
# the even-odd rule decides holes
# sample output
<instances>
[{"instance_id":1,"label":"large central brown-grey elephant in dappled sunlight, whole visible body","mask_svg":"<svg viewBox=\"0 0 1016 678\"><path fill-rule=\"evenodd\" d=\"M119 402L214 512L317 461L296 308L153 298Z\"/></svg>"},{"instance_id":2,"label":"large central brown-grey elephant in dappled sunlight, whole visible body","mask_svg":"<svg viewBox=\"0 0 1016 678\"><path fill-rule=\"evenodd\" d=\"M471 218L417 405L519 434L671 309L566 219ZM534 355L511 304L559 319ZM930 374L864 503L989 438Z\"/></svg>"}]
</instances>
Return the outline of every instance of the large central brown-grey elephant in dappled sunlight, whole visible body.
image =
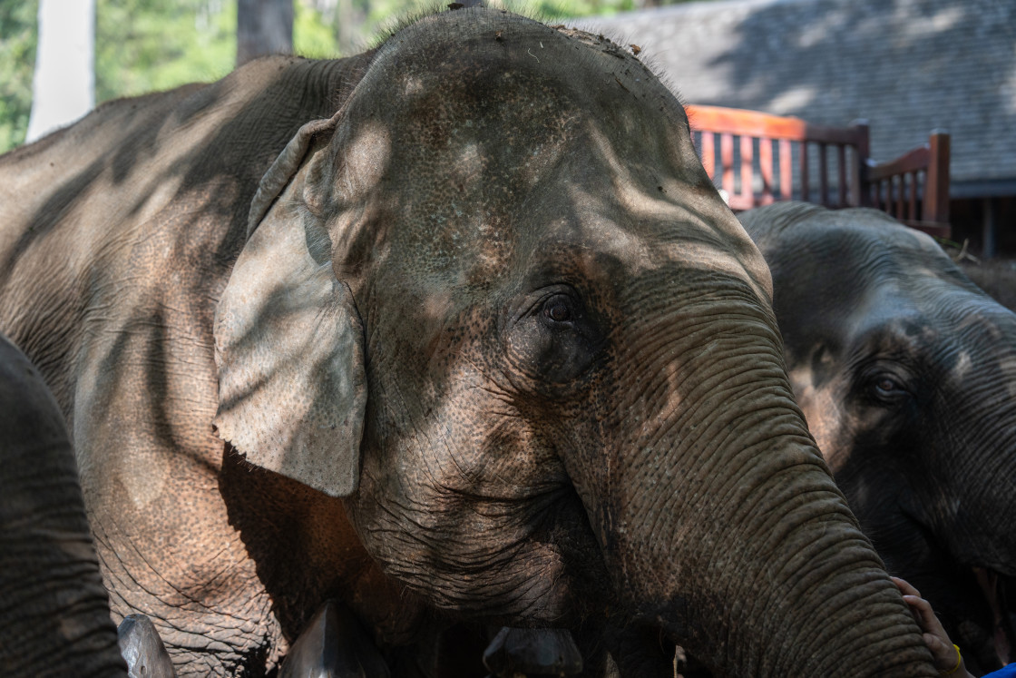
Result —
<instances>
[{"instance_id":1,"label":"large central brown-grey elephant in dappled sunlight, whole visible body","mask_svg":"<svg viewBox=\"0 0 1016 678\"><path fill-rule=\"evenodd\" d=\"M758 250L613 43L443 12L106 105L0 177L0 327L72 422L114 616L179 675L273 671L329 598L397 676L453 623L567 628L586 675L675 641L935 675Z\"/></svg>"}]
</instances>

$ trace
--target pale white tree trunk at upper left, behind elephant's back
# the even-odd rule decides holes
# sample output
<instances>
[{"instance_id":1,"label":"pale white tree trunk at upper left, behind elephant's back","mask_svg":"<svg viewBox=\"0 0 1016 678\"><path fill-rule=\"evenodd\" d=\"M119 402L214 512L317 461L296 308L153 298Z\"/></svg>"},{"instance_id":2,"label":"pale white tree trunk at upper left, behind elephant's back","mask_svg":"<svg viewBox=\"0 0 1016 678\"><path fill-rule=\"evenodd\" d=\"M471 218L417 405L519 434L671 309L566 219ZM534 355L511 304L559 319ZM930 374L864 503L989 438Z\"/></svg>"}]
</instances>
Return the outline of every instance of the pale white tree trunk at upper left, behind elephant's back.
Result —
<instances>
[{"instance_id":1,"label":"pale white tree trunk at upper left, behind elephant's back","mask_svg":"<svg viewBox=\"0 0 1016 678\"><path fill-rule=\"evenodd\" d=\"M25 141L74 122L96 105L96 0L39 0L39 46Z\"/></svg>"}]
</instances>

